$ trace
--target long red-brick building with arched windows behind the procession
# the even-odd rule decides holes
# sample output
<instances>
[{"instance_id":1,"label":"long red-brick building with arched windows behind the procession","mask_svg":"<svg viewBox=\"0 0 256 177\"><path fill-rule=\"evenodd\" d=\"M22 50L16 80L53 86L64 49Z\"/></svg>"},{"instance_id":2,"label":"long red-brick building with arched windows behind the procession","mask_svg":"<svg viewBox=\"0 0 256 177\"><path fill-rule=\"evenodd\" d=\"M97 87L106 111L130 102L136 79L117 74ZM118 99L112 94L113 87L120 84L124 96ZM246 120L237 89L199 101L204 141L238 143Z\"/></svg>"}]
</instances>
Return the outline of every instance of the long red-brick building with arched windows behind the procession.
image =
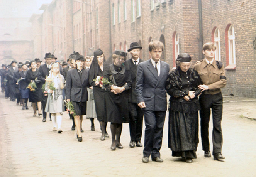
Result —
<instances>
[{"instance_id":1,"label":"long red-brick building with arched windows behind the procession","mask_svg":"<svg viewBox=\"0 0 256 177\"><path fill-rule=\"evenodd\" d=\"M56 49L66 60L73 50L92 55L101 48L109 57L137 41L146 60L148 43L160 40L162 59L175 69L179 53L194 64L203 59L203 43L212 41L227 75L223 93L256 97L254 7L256 1L239 0L53 0L41 7L42 53Z\"/></svg>"}]
</instances>

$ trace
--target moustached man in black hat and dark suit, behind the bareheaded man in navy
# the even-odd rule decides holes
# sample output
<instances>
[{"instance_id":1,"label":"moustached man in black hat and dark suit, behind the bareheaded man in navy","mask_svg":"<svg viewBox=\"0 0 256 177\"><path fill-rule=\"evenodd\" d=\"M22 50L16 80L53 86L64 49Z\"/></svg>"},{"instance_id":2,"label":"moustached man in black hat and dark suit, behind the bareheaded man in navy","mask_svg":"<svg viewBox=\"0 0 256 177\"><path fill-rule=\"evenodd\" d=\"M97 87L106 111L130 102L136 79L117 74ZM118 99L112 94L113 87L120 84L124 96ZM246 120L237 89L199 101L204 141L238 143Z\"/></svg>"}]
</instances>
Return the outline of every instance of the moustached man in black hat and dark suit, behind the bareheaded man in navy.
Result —
<instances>
[{"instance_id":1,"label":"moustached man in black hat and dark suit, behind the bareheaded man in navy","mask_svg":"<svg viewBox=\"0 0 256 177\"><path fill-rule=\"evenodd\" d=\"M130 73L132 78L132 87L128 90L129 97L129 128L130 128L130 144L131 148L137 146L142 147L141 135L142 135L142 123L143 123L143 110L137 105L137 95L135 92L136 84L136 73L137 66L139 63L143 62L139 57L142 47L139 46L138 42L132 42L130 44L130 49L127 51L130 52L131 58L125 62L130 67Z\"/></svg>"}]
</instances>

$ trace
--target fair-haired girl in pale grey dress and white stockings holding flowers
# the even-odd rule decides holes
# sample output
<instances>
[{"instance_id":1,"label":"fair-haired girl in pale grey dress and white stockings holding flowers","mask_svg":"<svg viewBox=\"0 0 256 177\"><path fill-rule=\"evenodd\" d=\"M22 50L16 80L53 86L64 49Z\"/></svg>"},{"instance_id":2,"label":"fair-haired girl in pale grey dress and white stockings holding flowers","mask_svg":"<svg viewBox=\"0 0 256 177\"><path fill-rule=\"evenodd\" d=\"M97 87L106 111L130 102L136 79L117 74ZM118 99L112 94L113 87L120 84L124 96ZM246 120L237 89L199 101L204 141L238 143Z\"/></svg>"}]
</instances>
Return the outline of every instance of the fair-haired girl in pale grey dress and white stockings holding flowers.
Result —
<instances>
[{"instance_id":1,"label":"fair-haired girl in pale grey dress and white stockings holding flowers","mask_svg":"<svg viewBox=\"0 0 256 177\"><path fill-rule=\"evenodd\" d=\"M54 63L49 71L49 76L45 79L45 91L48 93L45 111L51 113L53 122L53 131L57 131L56 120L58 126L58 133L61 133L61 113L64 112L64 102L62 91L64 88L64 77L60 74L59 64Z\"/></svg>"}]
</instances>

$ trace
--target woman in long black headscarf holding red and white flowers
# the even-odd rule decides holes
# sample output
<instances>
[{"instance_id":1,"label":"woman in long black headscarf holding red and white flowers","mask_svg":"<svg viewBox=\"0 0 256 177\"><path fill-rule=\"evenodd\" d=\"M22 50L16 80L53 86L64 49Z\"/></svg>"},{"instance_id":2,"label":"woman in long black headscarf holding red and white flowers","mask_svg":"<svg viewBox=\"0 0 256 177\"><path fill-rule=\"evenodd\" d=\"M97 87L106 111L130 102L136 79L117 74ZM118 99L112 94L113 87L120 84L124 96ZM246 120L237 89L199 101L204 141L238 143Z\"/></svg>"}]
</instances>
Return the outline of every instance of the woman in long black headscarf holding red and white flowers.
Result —
<instances>
[{"instance_id":1,"label":"woman in long black headscarf holding red and white flowers","mask_svg":"<svg viewBox=\"0 0 256 177\"><path fill-rule=\"evenodd\" d=\"M97 49L93 53L93 60L89 71L89 81L93 86L93 97L95 102L95 109L97 119L100 122L100 130L102 132L100 140L105 140L105 137L109 137L106 131L107 127L107 116L106 116L106 105L105 105L105 90L102 89L102 85L98 81L93 81L97 76L103 76L103 63L105 62L105 56L101 49Z\"/></svg>"}]
</instances>

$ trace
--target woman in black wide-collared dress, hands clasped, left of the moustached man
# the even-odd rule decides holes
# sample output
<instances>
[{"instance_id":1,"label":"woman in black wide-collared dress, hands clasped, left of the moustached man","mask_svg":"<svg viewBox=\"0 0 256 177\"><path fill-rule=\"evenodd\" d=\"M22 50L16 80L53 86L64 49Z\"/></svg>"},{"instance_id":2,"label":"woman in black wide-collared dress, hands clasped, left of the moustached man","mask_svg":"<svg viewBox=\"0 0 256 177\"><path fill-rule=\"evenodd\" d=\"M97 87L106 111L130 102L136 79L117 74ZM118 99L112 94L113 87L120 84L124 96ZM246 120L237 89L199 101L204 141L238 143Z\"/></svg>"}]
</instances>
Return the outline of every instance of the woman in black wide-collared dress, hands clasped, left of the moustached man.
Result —
<instances>
[{"instance_id":1,"label":"woman in black wide-collared dress, hands clasped, left of the moustached man","mask_svg":"<svg viewBox=\"0 0 256 177\"><path fill-rule=\"evenodd\" d=\"M124 65L126 56L126 52L116 50L111 56L112 64L104 69L104 78L112 82L106 92L107 121L111 122L111 150L115 150L116 147L123 148L120 143L122 123L129 122L127 90L131 87L132 81L129 66Z\"/></svg>"}]
</instances>

